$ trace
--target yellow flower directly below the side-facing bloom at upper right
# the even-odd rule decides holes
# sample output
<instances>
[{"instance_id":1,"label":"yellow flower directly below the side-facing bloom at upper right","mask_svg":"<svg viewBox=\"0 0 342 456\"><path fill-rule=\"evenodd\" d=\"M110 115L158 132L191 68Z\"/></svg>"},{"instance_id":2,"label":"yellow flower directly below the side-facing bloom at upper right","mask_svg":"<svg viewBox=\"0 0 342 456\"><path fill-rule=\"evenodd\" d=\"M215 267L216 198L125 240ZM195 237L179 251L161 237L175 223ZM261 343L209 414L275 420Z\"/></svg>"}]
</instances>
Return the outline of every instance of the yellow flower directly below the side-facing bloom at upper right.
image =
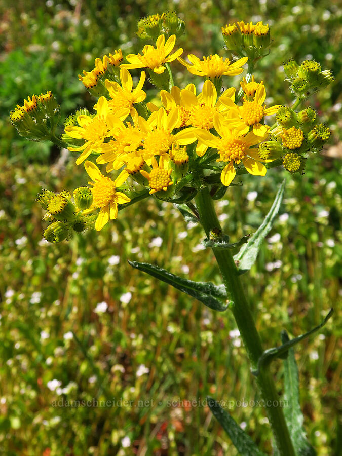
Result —
<instances>
[{"instance_id":1,"label":"yellow flower directly below the side-facing bloom at upper right","mask_svg":"<svg viewBox=\"0 0 342 456\"><path fill-rule=\"evenodd\" d=\"M203 84L202 93L198 96L194 92L183 89L180 97L184 108L189 112L186 124L204 130L210 130L214 126L213 117L215 113L227 110L222 100L229 99L229 102L233 103L235 89L234 87L227 89L217 100L216 88L210 80L207 80ZM202 157L207 148L203 144L198 143L196 146L197 155Z\"/></svg>"}]
</instances>

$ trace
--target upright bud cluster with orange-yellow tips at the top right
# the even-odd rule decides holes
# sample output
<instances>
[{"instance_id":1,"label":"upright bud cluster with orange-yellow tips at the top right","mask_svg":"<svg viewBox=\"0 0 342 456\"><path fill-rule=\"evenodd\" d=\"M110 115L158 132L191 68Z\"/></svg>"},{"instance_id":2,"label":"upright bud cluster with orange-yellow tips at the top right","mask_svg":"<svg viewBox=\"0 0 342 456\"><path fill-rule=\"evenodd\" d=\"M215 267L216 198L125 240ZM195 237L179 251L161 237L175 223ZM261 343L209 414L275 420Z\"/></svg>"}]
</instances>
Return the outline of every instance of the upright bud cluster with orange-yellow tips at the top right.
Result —
<instances>
[{"instance_id":1,"label":"upright bud cluster with orange-yellow tips at the top right","mask_svg":"<svg viewBox=\"0 0 342 456\"><path fill-rule=\"evenodd\" d=\"M238 57L257 60L270 53L270 27L262 21L226 25L222 27L222 36L227 49Z\"/></svg>"}]
</instances>

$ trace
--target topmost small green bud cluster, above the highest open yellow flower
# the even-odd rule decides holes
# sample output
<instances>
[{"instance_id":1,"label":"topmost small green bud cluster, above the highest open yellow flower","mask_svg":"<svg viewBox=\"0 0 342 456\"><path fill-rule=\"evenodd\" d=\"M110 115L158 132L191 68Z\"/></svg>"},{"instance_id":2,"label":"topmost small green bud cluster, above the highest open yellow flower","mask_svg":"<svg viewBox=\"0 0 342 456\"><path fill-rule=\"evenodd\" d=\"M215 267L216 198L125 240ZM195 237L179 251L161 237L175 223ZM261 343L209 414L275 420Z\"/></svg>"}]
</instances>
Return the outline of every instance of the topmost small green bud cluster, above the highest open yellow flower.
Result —
<instances>
[{"instance_id":1,"label":"topmost small green bud cluster, above the highest open yellow flower","mask_svg":"<svg viewBox=\"0 0 342 456\"><path fill-rule=\"evenodd\" d=\"M142 40L156 40L159 35L180 36L185 30L185 22L180 19L175 11L153 14L139 19L137 35Z\"/></svg>"}]
</instances>

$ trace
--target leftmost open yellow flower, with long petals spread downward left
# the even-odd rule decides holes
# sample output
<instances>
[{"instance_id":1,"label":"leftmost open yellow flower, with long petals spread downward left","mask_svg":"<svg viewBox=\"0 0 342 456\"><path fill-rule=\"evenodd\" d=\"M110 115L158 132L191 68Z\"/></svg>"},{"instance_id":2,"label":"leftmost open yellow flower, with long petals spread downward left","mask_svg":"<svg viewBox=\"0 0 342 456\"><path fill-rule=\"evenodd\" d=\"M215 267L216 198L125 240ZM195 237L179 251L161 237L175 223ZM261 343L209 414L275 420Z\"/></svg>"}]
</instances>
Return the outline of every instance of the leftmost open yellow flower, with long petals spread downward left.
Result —
<instances>
[{"instance_id":1,"label":"leftmost open yellow flower, with long petals spread downward left","mask_svg":"<svg viewBox=\"0 0 342 456\"><path fill-rule=\"evenodd\" d=\"M77 125L65 127L65 133L71 138L84 139L85 143L80 147L69 147L72 152L82 150L82 154L76 160L76 164L82 163L92 151L97 151L105 138L112 135L111 130L118 123L118 119L123 120L129 115L129 109L122 109L113 115L108 109L108 101L105 97L100 97L97 102L97 115L93 118L81 115L77 118Z\"/></svg>"}]
</instances>

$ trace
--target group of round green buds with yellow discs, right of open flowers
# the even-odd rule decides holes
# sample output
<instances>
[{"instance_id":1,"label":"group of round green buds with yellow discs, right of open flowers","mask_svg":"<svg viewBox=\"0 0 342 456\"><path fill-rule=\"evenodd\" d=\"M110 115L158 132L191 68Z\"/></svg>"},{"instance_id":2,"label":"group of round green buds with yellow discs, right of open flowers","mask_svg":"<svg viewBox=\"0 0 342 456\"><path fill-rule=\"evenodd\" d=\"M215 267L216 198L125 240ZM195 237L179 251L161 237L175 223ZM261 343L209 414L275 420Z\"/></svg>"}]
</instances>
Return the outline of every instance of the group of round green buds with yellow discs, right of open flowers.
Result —
<instances>
[{"instance_id":1,"label":"group of round green buds with yellow discs, right of open flowers","mask_svg":"<svg viewBox=\"0 0 342 456\"><path fill-rule=\"evenodd\" d=\"M278 126L272 130L272 139L259 145L258 155L263 160L283 160L291 174L304 173L309 152L318 152L330 137L330 129L323 124L314 126L317 112L311 107L295 112L281 106L277 112Z\"/></svg>"}]
</instances>

